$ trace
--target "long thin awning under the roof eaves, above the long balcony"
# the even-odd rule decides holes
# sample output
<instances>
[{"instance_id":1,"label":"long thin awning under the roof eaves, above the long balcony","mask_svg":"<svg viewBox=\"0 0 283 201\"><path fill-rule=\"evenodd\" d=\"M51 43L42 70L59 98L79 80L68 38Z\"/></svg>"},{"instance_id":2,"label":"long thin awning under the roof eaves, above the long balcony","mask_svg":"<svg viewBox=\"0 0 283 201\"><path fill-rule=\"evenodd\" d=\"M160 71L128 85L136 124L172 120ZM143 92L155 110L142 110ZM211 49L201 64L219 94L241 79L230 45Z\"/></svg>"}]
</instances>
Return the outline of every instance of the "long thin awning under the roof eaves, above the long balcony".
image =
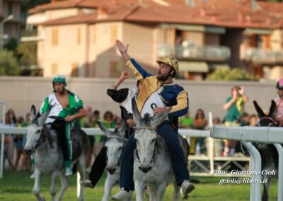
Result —
<instances>
[{"instance_id":1,"label":"long thin awning under the roof eaves, above the long balcony","mask_svg":"<svg viewBox=\"0 0 283 201\"><path fill-rule=\"evenodd\" d=\"M226 33L225 28L216 27L212 25L187 25L176 23L162 23L161 28L175 28L178 30L190 30L193 32L205 32L205 33Z\"/></svg>"}]
</instances>

